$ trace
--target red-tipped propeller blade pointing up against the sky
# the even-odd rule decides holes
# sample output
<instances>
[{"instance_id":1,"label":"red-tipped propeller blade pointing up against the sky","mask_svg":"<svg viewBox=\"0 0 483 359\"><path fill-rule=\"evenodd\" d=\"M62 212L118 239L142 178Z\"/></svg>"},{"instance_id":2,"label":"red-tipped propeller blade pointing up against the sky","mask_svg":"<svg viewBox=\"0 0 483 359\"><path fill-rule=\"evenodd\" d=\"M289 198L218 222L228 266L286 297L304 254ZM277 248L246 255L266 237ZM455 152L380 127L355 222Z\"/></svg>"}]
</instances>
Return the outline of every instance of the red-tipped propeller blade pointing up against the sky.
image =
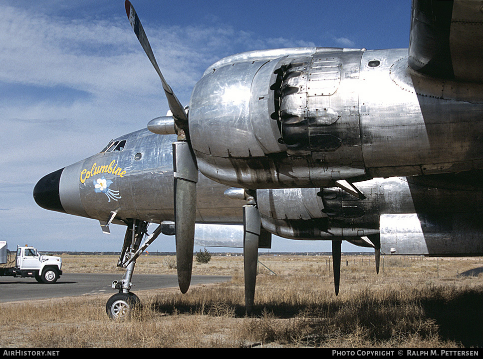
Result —
<instances>
[{"instance_id":1,"label":"red-tipped propeller blade pointing up against the sky","mask_svg":"<svg viewBox=\"0 0 483 359\"><path fill-rule=\"evenodd\" d=\"M156 62L156 58L154 57L153 50L151 49L151 45L149 44L148 37L144 32L143 25L141 24L141 21L139 20L139 17L136 14L136 11L134 10L133 5L129 0L126 0L124 5L126 7L127 17L129 18L129 22L131 23L131 26L134 30L134 33L136 34L136 37L139 40L139 43L141 43L141 46L143 47L144 52L146 52L146 55L148 55L149 60L153 64L154 69L156 70L156 72L159 75L159 78L161 79L164 93L166 94L166 98L168 99L169 109L173 113L173 117L176 120L176 125L179 128L185 130L185 132L187 132L188 116L186 115L185 109L181 105L181 102L178 100L178 97L176 97L173 90L171 89L171 86L168 84L168 82L166 82L163 74L161 73L158 63Z\"/></svg>"}]
</instances>

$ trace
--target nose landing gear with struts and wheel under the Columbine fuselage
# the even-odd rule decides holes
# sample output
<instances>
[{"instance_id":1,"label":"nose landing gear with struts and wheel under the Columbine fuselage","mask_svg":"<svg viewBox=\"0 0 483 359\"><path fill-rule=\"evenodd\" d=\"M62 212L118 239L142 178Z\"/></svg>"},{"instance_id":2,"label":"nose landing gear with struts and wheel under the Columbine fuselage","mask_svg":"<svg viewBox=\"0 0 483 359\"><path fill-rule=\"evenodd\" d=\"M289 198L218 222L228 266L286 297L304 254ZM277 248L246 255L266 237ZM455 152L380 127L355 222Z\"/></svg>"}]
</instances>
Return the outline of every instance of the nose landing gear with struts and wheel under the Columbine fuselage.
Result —
<instances>
[{"instance_id":1,"label":"nose landing gear with struts and wheel under the Columbine fuselage","mask_svg":"<svg viewBox=\"0 0 483 359\"><path fill-rule=\"evenodd\" d=\"M111 319L127 319L135 308L141 306L139 298L130 292L133 285L131 279L134 266L136 259L161 233L160 225L140 246L142 238L147 234L147 228L147 222L133 219L126 229L124 244L117 262L118 267L126 268L126 273L120 283L118 281L112 282L112 288L117 289L119 293L109 298L106 304L106 313Z\"/></svg>"}]
</instances>

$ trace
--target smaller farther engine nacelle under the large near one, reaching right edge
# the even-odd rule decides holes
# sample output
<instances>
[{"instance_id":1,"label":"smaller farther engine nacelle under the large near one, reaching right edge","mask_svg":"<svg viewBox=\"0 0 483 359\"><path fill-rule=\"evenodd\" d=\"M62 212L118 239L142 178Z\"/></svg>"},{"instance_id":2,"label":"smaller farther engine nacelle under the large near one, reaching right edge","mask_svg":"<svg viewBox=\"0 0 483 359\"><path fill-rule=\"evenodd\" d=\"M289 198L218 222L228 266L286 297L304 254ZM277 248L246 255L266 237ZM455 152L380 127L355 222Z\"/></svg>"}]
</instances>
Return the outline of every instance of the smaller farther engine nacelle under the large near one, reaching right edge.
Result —
<instances>
[{"instance_id":1,"label":"smaller farther engine nacelle under the large near one, reaching right edge","mask_svg":"<svg viewBox=\"0 0 483 359\"><path fill-rule=\"evenodd\" d=\"M382 254L483 255L483 188L465 173L357 183L341 188L257 190L263 227L284 238L344 239Z\"/></svg>"}]
</instances>

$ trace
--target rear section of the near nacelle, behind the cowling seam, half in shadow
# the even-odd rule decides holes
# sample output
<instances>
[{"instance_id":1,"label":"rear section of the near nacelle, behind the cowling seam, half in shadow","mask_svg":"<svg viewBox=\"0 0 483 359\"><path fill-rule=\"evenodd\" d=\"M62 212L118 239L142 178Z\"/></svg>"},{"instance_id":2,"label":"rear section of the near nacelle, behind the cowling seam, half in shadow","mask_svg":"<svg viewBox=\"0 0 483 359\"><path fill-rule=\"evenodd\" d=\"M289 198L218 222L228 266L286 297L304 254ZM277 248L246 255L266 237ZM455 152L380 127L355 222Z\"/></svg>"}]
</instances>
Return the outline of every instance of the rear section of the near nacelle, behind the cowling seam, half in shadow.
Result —
<instances>
[{"instance_id":1,"label":"rear section of the near nacelle, behind the cowling seam, half in shadow","mask_svg":"<svg viewBox=\"0 0 483 359\"><path fill-rule=\"evenodd\" d=\"M481 85L419 75L405 49L365 51L361 63L361 141L372 177L482 168Z\"/></svg>"}]
</instances>

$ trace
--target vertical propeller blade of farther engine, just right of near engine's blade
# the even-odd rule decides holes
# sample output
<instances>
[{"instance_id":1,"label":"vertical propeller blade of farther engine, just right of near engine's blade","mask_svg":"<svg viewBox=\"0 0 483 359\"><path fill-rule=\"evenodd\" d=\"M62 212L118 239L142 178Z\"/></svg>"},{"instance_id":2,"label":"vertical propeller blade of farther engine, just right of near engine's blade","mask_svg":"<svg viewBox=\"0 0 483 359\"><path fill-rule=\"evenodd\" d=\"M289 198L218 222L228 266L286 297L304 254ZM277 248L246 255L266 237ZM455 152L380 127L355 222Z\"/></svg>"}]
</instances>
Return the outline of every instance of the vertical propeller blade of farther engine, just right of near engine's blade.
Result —
<instances>
[{"instance_id":1,"label":"vertical propeller blade of farther engine, just right of near engine's blade","mask_svg":"<svg viewBox=\"0 0 483 359\"><path fill-rule=\"evenodd\" d=\"M254 200L253 200L254 202ZM243 206L243 271L245 281L245 310L250 315L255 298L256 264L258 262L258 237L261 219L254 204Z\"/></svg>"}]
</instances>

